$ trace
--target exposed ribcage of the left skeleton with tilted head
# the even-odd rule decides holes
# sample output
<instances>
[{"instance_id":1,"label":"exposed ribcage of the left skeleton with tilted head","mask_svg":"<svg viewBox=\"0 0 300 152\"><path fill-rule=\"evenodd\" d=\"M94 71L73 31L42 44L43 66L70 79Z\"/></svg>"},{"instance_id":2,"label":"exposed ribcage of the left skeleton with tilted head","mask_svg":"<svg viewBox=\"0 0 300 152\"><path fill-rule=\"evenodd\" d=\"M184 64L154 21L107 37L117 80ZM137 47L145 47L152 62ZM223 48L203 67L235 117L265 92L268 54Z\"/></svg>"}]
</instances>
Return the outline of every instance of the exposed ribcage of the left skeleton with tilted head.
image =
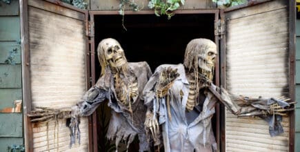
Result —
<instances>
[{"instance_id":1,"label":"exposed ribcage of the left skeleton with tilted head","mask_svg":"<svg viewBox=\"0 0 300 152\"><path fill-rule=\"evenodd\" d=\"M115 74L114 89L119 102L130 109L132 102L134 102L134 97L139 95L137 77L124 77L119 73Z\"/></svg>"}]
</instances>

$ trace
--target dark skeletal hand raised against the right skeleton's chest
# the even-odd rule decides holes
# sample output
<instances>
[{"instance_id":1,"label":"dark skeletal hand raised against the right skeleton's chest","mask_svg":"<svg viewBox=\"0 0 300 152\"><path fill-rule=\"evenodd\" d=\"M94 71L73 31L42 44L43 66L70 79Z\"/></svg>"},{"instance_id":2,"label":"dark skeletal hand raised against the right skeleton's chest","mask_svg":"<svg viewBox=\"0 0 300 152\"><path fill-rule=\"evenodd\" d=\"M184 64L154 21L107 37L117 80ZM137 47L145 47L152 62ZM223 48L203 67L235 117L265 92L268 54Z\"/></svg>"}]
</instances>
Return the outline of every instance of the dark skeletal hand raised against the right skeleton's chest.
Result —
<instances>
[{"instance_id":1,"label":"dark skeletal hand raised against the right skeleton's chest","mask_svg":"<svg viewBox=\"0 0 300 152\"><path fill-rule=\"evenodd\" d=\"M163 69L161 75L159 75L159 84L157 85L157 96L164 97L168 93L168 89L171 88L174 79L179 77L177 68L173 69L170 66Z\"/></svg>"}]
</instances>

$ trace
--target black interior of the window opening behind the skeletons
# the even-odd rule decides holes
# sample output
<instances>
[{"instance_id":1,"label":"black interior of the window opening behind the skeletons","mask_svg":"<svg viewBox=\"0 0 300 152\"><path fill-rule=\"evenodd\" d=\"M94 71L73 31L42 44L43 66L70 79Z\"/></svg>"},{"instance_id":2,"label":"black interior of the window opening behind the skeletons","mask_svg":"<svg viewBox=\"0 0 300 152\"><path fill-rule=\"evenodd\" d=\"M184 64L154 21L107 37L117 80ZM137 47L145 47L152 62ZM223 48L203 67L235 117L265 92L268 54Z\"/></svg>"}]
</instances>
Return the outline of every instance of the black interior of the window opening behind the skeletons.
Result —
<instances>
[{"instance_id":1,"label":"black interior of the window opening behind the skeletons","mask_svg":"<svg viewBox=\"0 0 300 152\"><path fill-rule=\"evenodd\" d=\"M214 41L214 14L176 14L170 20L155 15L125 15L124 26L127 30L122 26L121 15L95 15L96 52L102 39L117 39L128 61L147 61L152 72L161 64L183 63L186 45L192 39L206 38ZM97 55L95 58L98 79L101 69ZM103 113L103 109L98 111ZM215 119L212 123L215 126ZM100 136L103 136L103 129L97 128ZM132 151L138 149L138 144L134 144L134 147L131 147Z\"/></svg>"}]
</instances>

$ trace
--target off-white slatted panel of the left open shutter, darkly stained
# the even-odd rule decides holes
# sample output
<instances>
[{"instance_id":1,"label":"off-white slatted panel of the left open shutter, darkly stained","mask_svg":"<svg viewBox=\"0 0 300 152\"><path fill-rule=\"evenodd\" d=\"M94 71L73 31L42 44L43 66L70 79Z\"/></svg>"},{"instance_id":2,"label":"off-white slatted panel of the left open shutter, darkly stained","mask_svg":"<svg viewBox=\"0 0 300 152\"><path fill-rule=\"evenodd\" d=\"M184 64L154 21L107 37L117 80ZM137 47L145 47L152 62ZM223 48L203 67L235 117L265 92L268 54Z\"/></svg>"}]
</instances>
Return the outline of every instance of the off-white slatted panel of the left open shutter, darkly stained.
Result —
<instances>
[{"instance_id":1,"label":"off-white slatted panel of the left open shutter, darkly stained","mask_svg":"<svg viewBox=\"0 0 300 152\"><path fill-rule=\"evenodd\" d=\"M46 3L46 2L42 2ZM75 19L72 10L50 3L43 8L30 1L28 26L32 108L74 106L86 92L86 39L84 21ZM34 6L34 7L32 7ZM37 8L39 7L39 8ZM43 10L46 9L46 10ZM55 11L54 11L54 10ZM84 15L83 15L84 17ZM34 151L88 151L88 119L80 124L81 144L70 149L66 120L58 124L32 124Z\"/></svg>"}]
</instances>

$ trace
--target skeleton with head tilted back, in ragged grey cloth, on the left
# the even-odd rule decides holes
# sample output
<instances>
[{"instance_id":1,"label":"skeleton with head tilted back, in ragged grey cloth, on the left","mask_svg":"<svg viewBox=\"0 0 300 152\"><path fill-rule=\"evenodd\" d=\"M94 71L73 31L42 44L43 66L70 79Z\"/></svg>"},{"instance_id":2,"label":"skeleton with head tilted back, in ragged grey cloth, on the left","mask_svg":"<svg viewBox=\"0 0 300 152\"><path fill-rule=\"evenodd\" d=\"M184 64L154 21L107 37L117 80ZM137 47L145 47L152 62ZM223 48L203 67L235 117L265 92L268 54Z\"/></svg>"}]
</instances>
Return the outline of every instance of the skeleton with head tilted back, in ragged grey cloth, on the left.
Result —
<instances>
[{"instance_id":1,"label":"skeleton with head tilted back, in ragged grey cloth, on the left","mask_svg":"<svg viewBox=\"0 0 300 152\"><path fill-rule=\"evenodd\" d=\"M108 99L108 106L112 109L112 117L106 135L108 139L115 140L116 147L122 140L126 141L128 148L134 137L138 135L139 151L148 151L149 144L146 141L143 125L146 106L143 104L142 91L148 78L152 75L150 67L145 61L127 62L121 45L115 39L103 39L99 43L97 53L101 66L101 77L97 84L86 92L82 102L73 106L72 110L68 112L68 117L71 117L70 146L74 144L76 134L77 137L80 135L79 118L91 115L101 102ZM42 109L43 114L47 113L45 110ZM53 114L59 112L57 110L48 111L46 117L57 117ZM32 121L44 120L43 116L41 111L35 111L30 115L34 118Z\"/></svg>"}]
</instances>

